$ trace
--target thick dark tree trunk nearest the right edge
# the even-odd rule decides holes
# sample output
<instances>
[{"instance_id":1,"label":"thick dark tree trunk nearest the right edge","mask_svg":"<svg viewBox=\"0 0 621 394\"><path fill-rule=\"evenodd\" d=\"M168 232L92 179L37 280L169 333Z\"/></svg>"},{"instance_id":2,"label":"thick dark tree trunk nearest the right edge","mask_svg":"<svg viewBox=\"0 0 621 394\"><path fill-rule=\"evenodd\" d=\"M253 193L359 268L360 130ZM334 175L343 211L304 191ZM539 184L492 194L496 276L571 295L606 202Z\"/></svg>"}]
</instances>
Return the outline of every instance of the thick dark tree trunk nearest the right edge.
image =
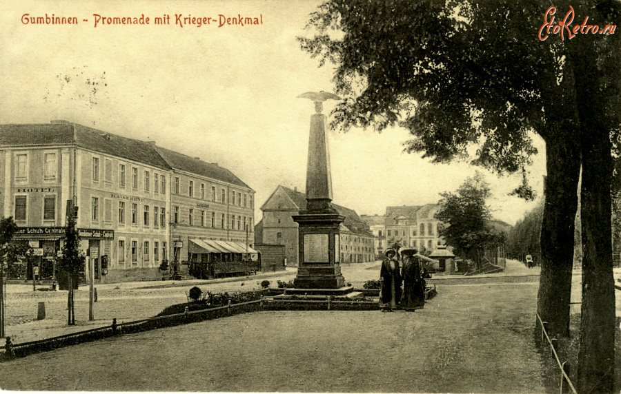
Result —
<instances>
[{"instance_id":1,"label":"thick dark tree trunk nearest the right edge","mask_svg":"<svg viewBox=\"0 0 621 394\"><path fill-rule=\"evenodd\" d=\"M589 12L592 10L588 9ZM619 39L615 40L619 43ZM572 47L574 59L578 59L575 61L576 72L581 76L576 81L576 91L580 92L577 100L582 135L580 393L612 393L615 386L615 289L611 229L613 161L611 124L605 110L607 95L615 96L618 90L610 81L600 79L596 49L599 41L599 37L598 40L587 37ZM607 57L600 67L615 68L618 73L618 60Z\"/></svg>"}]
</instances>

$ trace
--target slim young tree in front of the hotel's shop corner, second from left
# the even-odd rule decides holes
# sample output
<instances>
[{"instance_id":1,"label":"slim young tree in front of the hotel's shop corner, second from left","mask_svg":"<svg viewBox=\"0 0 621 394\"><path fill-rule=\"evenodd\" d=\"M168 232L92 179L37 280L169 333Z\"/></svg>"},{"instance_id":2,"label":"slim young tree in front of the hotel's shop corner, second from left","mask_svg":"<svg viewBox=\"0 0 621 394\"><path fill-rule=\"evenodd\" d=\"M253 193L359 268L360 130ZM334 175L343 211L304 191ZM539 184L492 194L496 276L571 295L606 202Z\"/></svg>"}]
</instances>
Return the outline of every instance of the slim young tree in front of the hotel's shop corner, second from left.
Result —
<instances>
[{"instance_id":1,"label":"slim young tree in front of the hotel's shop corner, second from left","mask_svg":"<svg viewBox=\"0 0 621 394\"><path fill-rule=\"evenodd\" d=\"M77 207L75 207L72 200L67 201L67 217L65 226L65 236L63 237L63 256L60 258L58 266L65 271L69 277L69 293L67 296L67 309L68 309L68 324L70 326L75 324L75 303L74 287L77 283L77 274L84 269L84 256L81 253L80 237L75 227L77 219Z\"/></svg>"}]
</instances>

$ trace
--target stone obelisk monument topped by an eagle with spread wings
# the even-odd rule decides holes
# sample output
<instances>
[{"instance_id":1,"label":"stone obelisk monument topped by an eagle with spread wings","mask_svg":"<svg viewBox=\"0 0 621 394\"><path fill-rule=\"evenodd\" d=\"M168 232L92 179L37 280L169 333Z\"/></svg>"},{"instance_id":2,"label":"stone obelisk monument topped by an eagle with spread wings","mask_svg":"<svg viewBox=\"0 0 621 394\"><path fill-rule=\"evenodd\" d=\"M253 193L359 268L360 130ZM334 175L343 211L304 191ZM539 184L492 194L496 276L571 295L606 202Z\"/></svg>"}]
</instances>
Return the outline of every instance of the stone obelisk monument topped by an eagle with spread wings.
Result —
<instances>
[{"instance_id":1,"label":"stone obelisk monument topped by an eagle with spread wings","mask_svg":"<svg viewBox=\"0 0 621 394\"><path fill-rule=\"evenodd\" d=\"M297 97L313 100L317 113L311 116L311 135L308 139L306 210L293 216L299 224L299 265L293 280L293 292L347 293L351 288L345 287L339 265L339 225L345 218L330 205L332 175L326 135L328 122L322 114L324 101L341 98L328 92L308 92Z\"/></svg>"}]
</instances>

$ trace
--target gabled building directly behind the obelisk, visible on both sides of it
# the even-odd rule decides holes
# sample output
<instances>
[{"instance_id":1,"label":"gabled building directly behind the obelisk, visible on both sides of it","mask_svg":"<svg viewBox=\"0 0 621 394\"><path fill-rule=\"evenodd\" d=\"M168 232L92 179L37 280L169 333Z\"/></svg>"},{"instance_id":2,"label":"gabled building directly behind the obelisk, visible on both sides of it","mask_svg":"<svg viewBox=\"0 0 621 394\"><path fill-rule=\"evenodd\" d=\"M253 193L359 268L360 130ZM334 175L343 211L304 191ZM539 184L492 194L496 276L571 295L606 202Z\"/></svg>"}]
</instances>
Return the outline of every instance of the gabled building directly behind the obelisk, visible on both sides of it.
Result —
<instances>
[{"instance_id":1,"label":"gabled building directly behind the obelisk, visible on both sides of it","mask_svg":"<svg viewBox=\"0 0 621 394\"><path fill-rule=\"evenodd\" d=\"M355 211L331 203L337 212L345 216L340 227L341 262L368 262L375 260L373 233ZM284 245L288 266L298 263L298 225L292 215L306 209L306 195L296 189L279 185L262 205L262 220L257 223L255 234L261 239L257 244Z\"/></svg>"}]
</instances>

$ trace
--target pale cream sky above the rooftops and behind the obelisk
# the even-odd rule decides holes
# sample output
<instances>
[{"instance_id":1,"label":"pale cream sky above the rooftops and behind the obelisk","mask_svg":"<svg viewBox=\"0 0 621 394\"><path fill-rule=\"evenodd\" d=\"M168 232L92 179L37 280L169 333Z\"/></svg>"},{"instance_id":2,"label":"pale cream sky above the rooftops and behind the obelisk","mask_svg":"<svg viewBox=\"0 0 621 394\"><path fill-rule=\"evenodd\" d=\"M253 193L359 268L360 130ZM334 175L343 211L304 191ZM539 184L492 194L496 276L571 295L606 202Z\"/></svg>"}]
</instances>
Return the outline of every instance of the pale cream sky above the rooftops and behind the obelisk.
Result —
<instances>
[{"instance_id":1,"label":"pale cream sky above the rooftops and behind the obelisk","mask_svg":"<svg viewBox=\"0 0 621 394\"><path fill-rule=\"evenodd\" d=\"M331 66L299 50L308 14L320 1L17 1L0 12L0 123L63 119L219 163L255 189L258 207L277 185L306 183L313 103L295 98L333 91ZM21 17L77 17L78 25L23 25ZM149 25L94 28L93 14L150 17ZM155 17L170 14L170 25ZM259 17L263 25L175 25L184 17ZM88 19L88 22L83 22ZM105 72L105 74L104 74ZM70 76L62 83L59 76ZM105 76L102 79L102 76ZM97 80L90 94L86 80ZM92 102L91 103L91 98ZM334 103L324 103L329 114ZM387 205L436 203L474 168L432 165L402 153L404 129L330 133L334 202L358 214ZM531 184L541 196L543 143ZM506 194L520 174L497 178L494 216L514 224L535 203Z\"/></svg>"}]
</instances>

